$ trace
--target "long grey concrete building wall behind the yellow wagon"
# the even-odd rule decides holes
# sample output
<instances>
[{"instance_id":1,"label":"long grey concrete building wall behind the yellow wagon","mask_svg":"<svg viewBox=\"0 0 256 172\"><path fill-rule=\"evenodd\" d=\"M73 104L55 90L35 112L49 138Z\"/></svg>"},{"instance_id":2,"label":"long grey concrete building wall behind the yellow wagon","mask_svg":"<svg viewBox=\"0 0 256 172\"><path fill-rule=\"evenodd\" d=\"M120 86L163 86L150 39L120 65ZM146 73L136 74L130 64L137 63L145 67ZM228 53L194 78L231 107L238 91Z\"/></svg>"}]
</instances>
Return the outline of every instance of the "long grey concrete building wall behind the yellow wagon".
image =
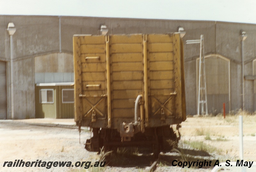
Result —
<instances>
[{"instance_id":1,"label":"long grey concrete building wall behind the yellow wagon","mask_svg":"<svg viewBox=\"0 0 256 172\"><path fill-rule=\"evenodd\" d=\"M73 70L73 64L70 64L73 60L73 35L99 34L100 25L107 25L110 34L167 33L177 32L178 26L184 27L188 114L196 114L197 110L196 58L199 57L200 45L185 44L186 40L200 39L200 35L204 34L205 55L218 54L230 60L231 110L242 106L240 30L246 31L248 35L244 41L245 75L253 74L252 60L256 58L256 25L253 24L66 16L0 16L0 21L0 60L7 62L8 113L10 113L10 39L6 29L9 22L13 22L17 29L13 35L15 118L35 117L34 84L46 82L36 78L51 73L70 75ZM50 81L56 82L54 78ZM254 81L246 80L245 109L249 111L255 111L253 89Z\"/></svg>"}]
</instances>

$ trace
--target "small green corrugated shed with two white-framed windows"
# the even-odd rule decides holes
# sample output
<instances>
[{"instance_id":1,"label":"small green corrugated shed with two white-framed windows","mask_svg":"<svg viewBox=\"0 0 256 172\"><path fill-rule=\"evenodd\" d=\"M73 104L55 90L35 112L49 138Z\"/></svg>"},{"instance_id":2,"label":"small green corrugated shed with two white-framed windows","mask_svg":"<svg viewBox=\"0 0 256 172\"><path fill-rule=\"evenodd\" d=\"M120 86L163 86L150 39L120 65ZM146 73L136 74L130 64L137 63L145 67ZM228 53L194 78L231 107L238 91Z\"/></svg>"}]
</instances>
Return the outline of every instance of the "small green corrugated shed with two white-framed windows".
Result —
<instances>
[{"instance_id":1,"label":"small green corrugated shed with two white-framed windows","mask_svg":"<svg viewBox=\"0 0 256 172\"><path fill-rule=\"evenodd\" d=\"M36 118L74 118L73 82L39 83L35 91Z\"/></svg>"}]
</instances>

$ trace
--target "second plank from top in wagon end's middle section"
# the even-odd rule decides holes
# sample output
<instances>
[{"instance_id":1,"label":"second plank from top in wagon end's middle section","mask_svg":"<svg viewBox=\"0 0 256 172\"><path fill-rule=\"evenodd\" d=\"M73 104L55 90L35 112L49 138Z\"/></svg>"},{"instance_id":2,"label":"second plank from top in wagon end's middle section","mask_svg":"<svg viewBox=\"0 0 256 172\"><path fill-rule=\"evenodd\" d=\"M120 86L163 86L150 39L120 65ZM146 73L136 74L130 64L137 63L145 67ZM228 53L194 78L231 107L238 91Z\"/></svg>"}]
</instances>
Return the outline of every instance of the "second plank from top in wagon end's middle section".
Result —
<instances>
[{"instance_id":1,"label":"second plank from top in wagon end's middle section","mask_svg":"<svg viewBox=\"0 0 256 172\"><path fill-rule=\"evenodd\" d=\"M141 44L111 44L111 53L140 53Z\"/></svg>"}]
</instances>

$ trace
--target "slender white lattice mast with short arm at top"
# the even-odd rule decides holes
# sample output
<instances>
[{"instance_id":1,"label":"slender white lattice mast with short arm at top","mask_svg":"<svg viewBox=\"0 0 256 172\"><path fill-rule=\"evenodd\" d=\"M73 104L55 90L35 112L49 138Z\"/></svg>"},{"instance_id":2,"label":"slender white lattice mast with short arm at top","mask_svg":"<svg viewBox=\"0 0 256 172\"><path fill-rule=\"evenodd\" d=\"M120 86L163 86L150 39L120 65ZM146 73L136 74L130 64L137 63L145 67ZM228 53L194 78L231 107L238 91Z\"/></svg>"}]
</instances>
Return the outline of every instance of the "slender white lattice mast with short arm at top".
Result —
<instances>
[{"instance_id":1,"label":"slender white lattice mast with short arm at top","mask_svg":"<svg viewBox=\"0 0 256 172\"><path fill-rule=\"evenodd\" d=\"M205 62L204 62L204 35L201 35L201 39L187 40L186 42L187 44L200 43L197 115L200 114L200 104L201 104L201 115L204 115L204 104L205 104L205 114L208 115L206 79L205 79Z\"/></svg>"}]
</instances>

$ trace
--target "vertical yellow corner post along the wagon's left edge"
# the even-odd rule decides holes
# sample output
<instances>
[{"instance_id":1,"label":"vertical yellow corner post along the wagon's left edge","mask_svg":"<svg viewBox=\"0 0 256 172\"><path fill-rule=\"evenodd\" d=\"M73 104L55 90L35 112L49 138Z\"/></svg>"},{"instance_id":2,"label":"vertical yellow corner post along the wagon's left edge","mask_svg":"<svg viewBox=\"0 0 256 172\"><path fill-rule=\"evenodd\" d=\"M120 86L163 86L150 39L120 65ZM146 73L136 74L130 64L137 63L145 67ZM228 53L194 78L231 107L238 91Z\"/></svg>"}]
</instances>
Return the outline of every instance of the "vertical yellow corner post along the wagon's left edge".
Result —
<instances>
[{"instance_id":1,"label":"vertical yellow corner post along the wagon's left edge","mask_svg":"<svg viewBox=\"0 0 256 172\"><path fill-rule=\"evenodd\" d=\"M81 122L83 117L83 106L79 94L82 93L82 70L81 70L81 53L80 53L80 37L73 37L73 52L74 52L74 91L75 91L75 121Z\"/></svg>"}]
</instances>

